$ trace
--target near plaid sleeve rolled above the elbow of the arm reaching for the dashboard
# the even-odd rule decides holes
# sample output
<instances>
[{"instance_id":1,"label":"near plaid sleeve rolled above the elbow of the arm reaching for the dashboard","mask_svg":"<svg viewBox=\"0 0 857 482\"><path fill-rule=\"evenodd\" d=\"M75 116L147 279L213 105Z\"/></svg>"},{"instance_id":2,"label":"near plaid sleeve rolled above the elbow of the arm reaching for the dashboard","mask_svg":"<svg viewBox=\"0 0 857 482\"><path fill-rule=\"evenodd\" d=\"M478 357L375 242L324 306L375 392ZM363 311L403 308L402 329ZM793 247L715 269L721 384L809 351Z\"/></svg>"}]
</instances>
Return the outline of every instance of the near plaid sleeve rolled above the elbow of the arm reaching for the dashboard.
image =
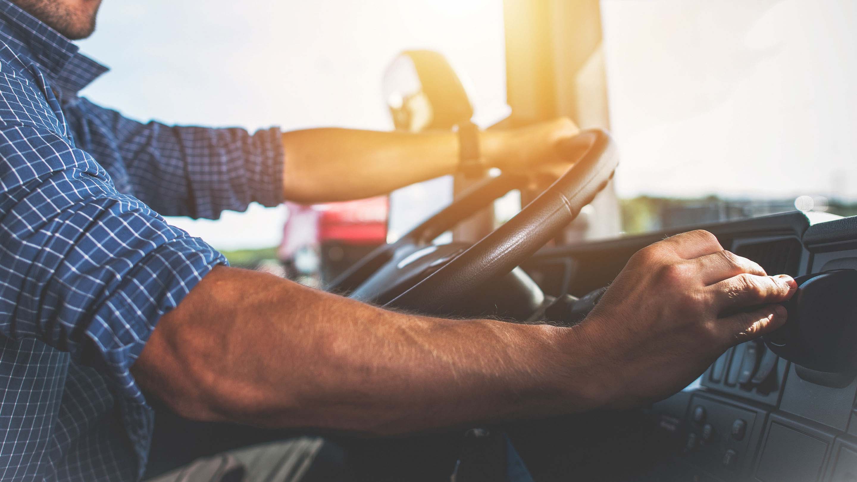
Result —
<instances>
[{"instance_id":1,"label":"near plaid sleeve rolled above the elbow of the arm reaching for the dashboard","mask_svg":"<svg viewBox=\"0 0 857 482\"><path fill-rule=\"evenodd\" d=\"M155 323L225 259L50 130L0 127L0 166L0 332L69 352L142 401L129 369Z\"/></svg>"}]
</instances>

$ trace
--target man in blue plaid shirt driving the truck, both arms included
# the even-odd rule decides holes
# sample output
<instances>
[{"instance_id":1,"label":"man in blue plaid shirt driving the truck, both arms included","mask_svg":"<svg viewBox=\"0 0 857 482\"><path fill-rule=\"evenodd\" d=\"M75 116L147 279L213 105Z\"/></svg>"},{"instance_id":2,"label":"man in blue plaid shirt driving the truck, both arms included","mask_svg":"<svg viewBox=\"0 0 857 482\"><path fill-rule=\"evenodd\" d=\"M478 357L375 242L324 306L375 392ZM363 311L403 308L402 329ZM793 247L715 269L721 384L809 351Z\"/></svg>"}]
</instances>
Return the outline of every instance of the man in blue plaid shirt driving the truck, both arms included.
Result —
<instances>
[{"instance_id":1,"label":"man in blue plaid shirt driving the truck, both arms included","mask_svg":"<svg viewBox=\"0 0 857 482\"><path fill-rule=\"evenodd\" d=\"M633 406L785 319L794 280L707 232L638 252L575 328L395 313L229 268L160 214L375 196L454 172L456 136L138 124L76 95L105 71L69 42L98 8L0 0L0 479L139 479L147 397L381 435ZM480 142L530 171L576 131Z\"/></svg>"}]
</instances>

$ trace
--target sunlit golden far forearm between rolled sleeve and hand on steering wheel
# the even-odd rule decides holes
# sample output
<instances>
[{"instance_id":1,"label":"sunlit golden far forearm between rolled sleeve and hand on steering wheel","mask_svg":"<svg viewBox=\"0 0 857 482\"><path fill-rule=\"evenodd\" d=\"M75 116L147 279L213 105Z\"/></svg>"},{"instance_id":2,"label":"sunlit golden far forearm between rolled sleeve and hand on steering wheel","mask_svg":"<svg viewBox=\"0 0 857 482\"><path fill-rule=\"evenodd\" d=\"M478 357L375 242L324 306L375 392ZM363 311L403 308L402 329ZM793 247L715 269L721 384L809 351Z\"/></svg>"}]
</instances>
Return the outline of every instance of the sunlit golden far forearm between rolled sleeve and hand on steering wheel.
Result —
<instances>
[{"instance_id":1,"label":"sunlit golden far forearm between rolled sleeve and hand on steering wheel","mask_svg":"<svg viewBox=\"0 0 857 482\"><path fill-rule=\"evenodd\" d=\"M482 151L494 166L492 139L482 134ZM458 166L458 138L452 132L296 130L283 134L283 145L284 195L296 202L377 196L452 174Z\"/></svg>"}]
</instances>

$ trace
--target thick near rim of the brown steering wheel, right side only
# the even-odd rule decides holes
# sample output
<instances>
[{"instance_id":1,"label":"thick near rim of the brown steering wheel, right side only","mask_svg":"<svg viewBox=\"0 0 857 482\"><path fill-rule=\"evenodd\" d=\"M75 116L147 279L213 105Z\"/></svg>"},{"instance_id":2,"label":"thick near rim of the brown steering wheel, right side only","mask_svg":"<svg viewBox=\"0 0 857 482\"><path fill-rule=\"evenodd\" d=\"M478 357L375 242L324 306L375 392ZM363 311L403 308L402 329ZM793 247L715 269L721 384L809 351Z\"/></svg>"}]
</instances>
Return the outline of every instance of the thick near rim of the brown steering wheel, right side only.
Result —
<instances>
[{"instance_id":1,"label":"thick near rim of the brown steering wheel, right side only","mask_svg":"<svg viewBox=\"0 0 857 482\"><path fill-rule=\"evenodd\" d=\"M476 286L509 273L535 253L613 178L619 160L608 133L585 130L559 148L577 152L582 146L586 150L579 160L511 220L385 306L443 313Z\"/></svg>"}]
</instances>

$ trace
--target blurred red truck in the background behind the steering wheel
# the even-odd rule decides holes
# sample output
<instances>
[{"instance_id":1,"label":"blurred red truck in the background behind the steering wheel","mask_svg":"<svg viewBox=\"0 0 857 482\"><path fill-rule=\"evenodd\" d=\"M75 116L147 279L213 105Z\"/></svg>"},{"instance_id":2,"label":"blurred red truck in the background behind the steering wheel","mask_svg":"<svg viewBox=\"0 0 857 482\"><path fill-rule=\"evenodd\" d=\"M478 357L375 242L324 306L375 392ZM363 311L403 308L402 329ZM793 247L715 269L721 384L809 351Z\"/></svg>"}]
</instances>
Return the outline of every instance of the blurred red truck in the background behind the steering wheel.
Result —
<instances>
[{"instance_id":1,"label":"blurred red truck in the background behind the steering wheel","mask_svg":"<svg viewBox=\"0 0 857 482\"><path fill-rule=\"evenodd\" d=\"M286 206L289 217L277 254L286 275L304 284L325 285L387 242L387 196Z\"/></svg>"}]
</instances>

